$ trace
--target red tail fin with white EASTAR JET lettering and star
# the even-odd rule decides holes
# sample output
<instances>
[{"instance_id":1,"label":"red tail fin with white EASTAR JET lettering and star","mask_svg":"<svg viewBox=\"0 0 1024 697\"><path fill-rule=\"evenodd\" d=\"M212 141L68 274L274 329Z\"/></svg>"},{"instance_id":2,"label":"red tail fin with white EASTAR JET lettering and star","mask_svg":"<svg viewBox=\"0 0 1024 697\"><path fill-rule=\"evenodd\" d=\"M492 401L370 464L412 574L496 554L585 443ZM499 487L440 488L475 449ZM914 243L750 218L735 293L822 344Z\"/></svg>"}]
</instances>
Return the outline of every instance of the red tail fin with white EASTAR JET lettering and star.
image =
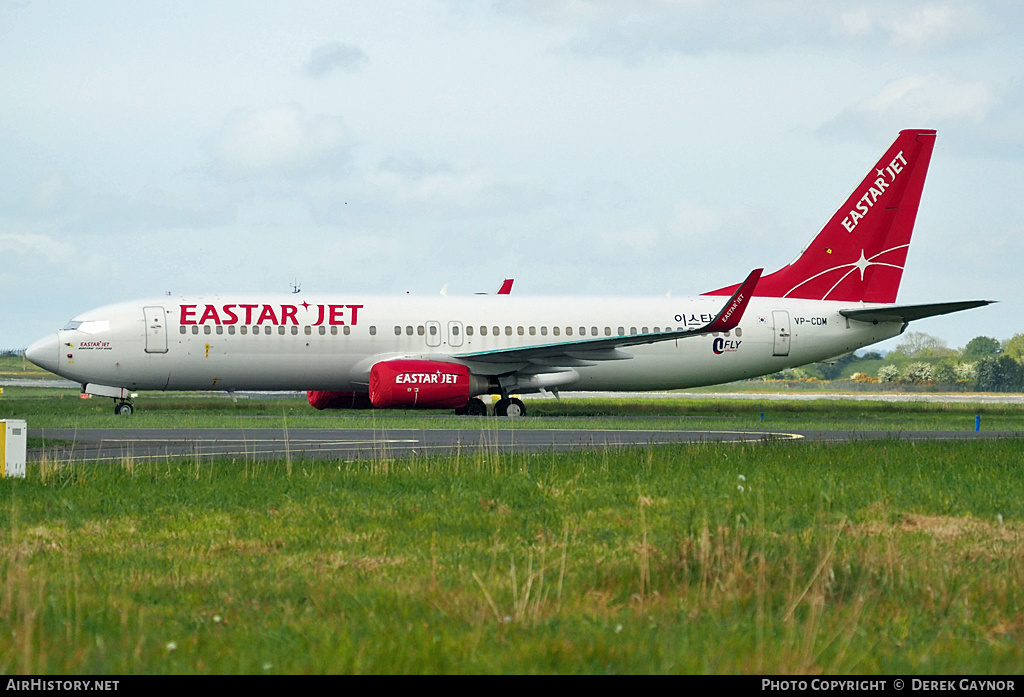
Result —
<instances>
[{"instance_id":1,"label":"red tail fin with white EASTAR JET lettering and star","mask_svg":"<svg viewBox=\"0 0 1024 697\"><path fill-rule=\"evenodd\" d=\"M762 278L755 295L896 302L934 145L935 131L900 131L811 244L790 265Z\"/></svg>"}]
</instances>

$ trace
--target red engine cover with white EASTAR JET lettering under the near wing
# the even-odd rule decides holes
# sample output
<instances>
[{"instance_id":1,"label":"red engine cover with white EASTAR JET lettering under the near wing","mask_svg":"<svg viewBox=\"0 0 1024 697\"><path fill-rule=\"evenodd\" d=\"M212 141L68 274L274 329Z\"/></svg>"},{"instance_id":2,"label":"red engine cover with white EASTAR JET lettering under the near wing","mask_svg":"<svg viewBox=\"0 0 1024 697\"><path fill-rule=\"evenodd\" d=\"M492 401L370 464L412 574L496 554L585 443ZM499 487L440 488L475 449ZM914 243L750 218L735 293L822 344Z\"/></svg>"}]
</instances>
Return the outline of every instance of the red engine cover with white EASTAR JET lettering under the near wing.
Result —
<instances>
[{"instance_id":1,"label":"red engine cover with white EASTAR JET lettering under the near wing","mask_svg":"<svg viewBox=\"0 0 1024 697\"><path fill-rule=\"evenodd\" d=\"M385 360L370 369L379 408L446 408L469 402L469 368L435 360Z\"/></svg>"}]
</instances>

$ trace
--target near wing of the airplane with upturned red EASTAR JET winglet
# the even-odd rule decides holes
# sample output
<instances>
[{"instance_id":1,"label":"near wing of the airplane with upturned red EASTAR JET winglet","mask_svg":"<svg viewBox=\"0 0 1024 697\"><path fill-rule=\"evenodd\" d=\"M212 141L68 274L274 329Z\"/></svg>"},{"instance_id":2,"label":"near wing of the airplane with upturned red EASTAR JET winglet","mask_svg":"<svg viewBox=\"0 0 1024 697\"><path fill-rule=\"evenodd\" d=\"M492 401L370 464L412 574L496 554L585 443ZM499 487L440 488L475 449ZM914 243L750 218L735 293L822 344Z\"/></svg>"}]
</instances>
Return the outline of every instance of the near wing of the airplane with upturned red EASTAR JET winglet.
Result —
<instances>
[{"instance_id":1,"label":"near wing of the airplane with upturned red EASTAR JET winglet","mask_svg":"<svg viewBox=\"0 0 1024 697\"><path fill-rule=\"evenodd\" d=\"M675 339L687 339L713 332L728 332L739 324L746 310L754 289L764 269L751 271L746 279L739 285L732 297L726 301L715 318L703 326L692 330L659 332L657 334L631 334L623 337L604 337L601 339L580 339L562 341L554 344L524 346L520 348L497 349L494 351L474 351L471 353L454 354L454 358L484 363L515 363L528 361L553 366L586 365L590 361L622 360L632 358L629 353L620 351L627 346L656 344Z\"/></svg>"}]
</instances>

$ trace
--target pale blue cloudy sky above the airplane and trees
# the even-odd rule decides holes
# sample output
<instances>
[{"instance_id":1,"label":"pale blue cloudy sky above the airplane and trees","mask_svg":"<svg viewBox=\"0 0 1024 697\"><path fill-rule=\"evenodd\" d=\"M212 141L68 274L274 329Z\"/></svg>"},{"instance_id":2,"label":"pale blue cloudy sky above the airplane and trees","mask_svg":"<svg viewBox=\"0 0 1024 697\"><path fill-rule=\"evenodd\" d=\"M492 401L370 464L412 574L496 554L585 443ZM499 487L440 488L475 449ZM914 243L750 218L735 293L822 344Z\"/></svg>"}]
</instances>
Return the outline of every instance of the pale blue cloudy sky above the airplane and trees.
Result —
<instances>
[{"instance_id":1,"label":"pale blue cloudy sky above the airplane and trees","mask_svg":"<svg viewBox=\"0 0 1024 697\"><path fill-rule=\"evenodd\" d=\"M898 300L999 301L911 329L1008 339L1021 46L1016 0L0 0L0 349L168 292L698 294L904 128Z\"/></svg>"}]
</instances>

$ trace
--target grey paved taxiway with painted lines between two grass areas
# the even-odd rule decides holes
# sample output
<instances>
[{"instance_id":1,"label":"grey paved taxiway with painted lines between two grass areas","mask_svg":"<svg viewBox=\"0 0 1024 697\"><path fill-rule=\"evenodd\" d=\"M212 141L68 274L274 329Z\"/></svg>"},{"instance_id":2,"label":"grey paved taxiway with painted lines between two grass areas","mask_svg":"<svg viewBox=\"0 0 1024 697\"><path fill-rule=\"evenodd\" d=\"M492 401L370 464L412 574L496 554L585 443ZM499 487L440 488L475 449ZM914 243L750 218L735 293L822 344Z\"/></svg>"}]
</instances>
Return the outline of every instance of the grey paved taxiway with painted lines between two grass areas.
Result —
<instances>
[{"instance_id":1,"label":"grey paved taxiway with painted lines between two grass areas","mask_svg":"<svg viewBox=\"0 0 1024 697\"><path fill-rule=\"evenodd\" d=\"M29 462L173 459L358 461L428 454L551 452L701 442L1021 438L1018 431L613 431L541 429L30 429ZM51 443L51 444L50 444Z\"/></svg>"}]
</instances>

